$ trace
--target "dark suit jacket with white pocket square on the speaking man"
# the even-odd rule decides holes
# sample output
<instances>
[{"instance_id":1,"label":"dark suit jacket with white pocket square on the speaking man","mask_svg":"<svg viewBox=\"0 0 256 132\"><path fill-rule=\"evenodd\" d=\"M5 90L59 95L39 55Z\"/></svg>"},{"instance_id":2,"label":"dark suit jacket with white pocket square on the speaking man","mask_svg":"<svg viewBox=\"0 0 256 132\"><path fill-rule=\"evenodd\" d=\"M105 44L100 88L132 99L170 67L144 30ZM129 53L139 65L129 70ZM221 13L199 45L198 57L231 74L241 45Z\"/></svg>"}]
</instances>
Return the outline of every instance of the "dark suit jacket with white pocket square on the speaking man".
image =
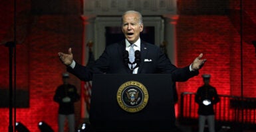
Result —
<instances>
[{"instance_id":1,"label":"dark suit jacket with white pocket square on the speaking man","mask_svg":"<svg viewBox=\"0 0 256 132\"><path fill-rule=\"evenodd\" d=\"M107 46L94 65L84 67L76 62L74 69L68 67L72 73L82 81L91 81L93 74L130 74L127 63L124 63L123 53L126 50L125 41ZM172 65L170 59L161 51L158 46L141 41L140 45L140 67L138 74L172 74L176 81L187 81L198 75L198 71L190 71L189 66L177 68Z\"/></svg>"}]
</instances>

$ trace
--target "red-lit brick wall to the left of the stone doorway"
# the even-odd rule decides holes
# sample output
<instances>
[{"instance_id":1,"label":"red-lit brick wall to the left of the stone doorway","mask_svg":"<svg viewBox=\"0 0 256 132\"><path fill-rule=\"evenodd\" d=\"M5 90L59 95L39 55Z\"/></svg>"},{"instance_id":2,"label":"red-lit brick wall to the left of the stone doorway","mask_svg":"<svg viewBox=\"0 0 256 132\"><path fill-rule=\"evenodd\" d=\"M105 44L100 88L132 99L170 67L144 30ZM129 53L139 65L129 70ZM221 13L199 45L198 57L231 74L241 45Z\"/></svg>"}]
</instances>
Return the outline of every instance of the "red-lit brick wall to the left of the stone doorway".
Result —
<instances>
[{"instance_id":1,"label":"red-lit brick wall to the left of the stone doorway","mask_svg":"<svg viewBox=\"0 0 256 132\"><path fill-rule=\"evenodd\" d=\"M3 34L1 40L6 39L6 34L10 36L12 28L13 3L1 4L1 7L9 6L5 9L4 17L1 20L0 32ZM19 1L18 1L19 2ZM29 5L29 1L27 1ZM23 1L23 3L25 3ZM23 5L23 4L19 4ZM20 7L19 7L20 8ZM9 13L9 14L8 14ZM30 15L19 12L17 18L27 18L29 25L25 28L25 39L19 41L17 45L17 87L25 85L29 89L29 108L17 108L17 121L21 121L30 131L39 131L37 124L45 121L57 131L57 110L58 104L53 102L53 95L59 84L62 84L61 73L66 71L64 65L59 61L57 53L67 52L72 48L74 59L81 61L82 57L82 20L79 15ZM7 19L6 19L7 18ZM6 22L8 20L9 22ZM17 20L20 22L20 19ZM20 23L19 23L20 24ZM8 27L8 28L7 28ZM17 26L24 30L24 24ZM8 33L9 32L9 33ZM17 33L22 32L17 30ZM24 32L24 31L23 31ZM11 40L11 39L10 39ZM8 48L4 46L0 51L1 58L1 87L8 88ZM26 75L23 77L23 75ZM80 92L80 81L70 75L70 83L75 84ZM80 102L75 103L76 125L80 121ZM8 131L9 109L0 108L0 131Z\"/></svg>"}]
</instances>

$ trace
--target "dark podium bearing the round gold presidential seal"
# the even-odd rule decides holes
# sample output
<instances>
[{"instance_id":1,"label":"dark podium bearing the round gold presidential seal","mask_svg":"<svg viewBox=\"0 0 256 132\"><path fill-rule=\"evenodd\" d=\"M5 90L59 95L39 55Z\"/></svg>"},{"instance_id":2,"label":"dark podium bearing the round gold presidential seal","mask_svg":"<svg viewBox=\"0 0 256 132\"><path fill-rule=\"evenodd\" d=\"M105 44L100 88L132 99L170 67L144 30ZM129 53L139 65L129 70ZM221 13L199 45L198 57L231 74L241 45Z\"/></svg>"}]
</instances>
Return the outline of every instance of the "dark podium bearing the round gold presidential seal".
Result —
<instances>
[{"instance_id":1,"label":"dark podium bearing the round gold presidential seal","mask_svg":"<svg viewBox=\"0 0 256 132\"><path fill-rule=\"evenodd\" d=\"M171 75L167 74L94 75L90 103L92 129L171 131L175 124L172 83Z\"/></svg>"}]
</instances>

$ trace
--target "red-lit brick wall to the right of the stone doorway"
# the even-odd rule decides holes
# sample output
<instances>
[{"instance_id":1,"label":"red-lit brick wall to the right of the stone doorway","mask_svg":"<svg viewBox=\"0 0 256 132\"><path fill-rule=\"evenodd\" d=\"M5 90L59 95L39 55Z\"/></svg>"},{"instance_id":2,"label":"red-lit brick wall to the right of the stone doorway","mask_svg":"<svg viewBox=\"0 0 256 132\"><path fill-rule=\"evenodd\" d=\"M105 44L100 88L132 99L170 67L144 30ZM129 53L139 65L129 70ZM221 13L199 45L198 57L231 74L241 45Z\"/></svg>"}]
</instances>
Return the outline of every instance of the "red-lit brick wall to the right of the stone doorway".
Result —
<instances>
[{"instance_id":1,"label":"red-lit brick wall to the right of the stone doorway","mask_svg":"<svg viewBox=\"0 0 256 132\"><path fill-rule=\"evenodd\" d=\"M179 2L180 5L189 5L188 3L192 1ZM239 9L239 1L229 1L229 4L230 9ZM203 14L200 10L192 15L186 15L188 12L185 12L185 15L181 13L176 29L178 66L188 65L188 62L193 61L192 58L199 53L204 53L207 63L200 70L198 77L178 83L179 92L195 92L202 84L201 75L209 73L212 75L211 84L217 88L219 94L241 96L241 88L243 88L243 96L255 97L253 75L256 73L254 66L256 58L251 40L256 40L256 32L254 30L248 32L250 28L255 28L255 6L253 1L243 1L243 11L253 22L248 22L248 19L243 17L242 25L239 20L240 14L237 14L236 19L230 19L228 15L199 15ZM192 8L195 8L195 5L190 5L188 9ZM182 9L182 11L187 10ZM234 23L239 26L236 27ZM239 34L241 26L242 38ZM241 65L243 65L242 77ZM242 86L241 82L243 82Z\"/></svg>"}]
</instances>

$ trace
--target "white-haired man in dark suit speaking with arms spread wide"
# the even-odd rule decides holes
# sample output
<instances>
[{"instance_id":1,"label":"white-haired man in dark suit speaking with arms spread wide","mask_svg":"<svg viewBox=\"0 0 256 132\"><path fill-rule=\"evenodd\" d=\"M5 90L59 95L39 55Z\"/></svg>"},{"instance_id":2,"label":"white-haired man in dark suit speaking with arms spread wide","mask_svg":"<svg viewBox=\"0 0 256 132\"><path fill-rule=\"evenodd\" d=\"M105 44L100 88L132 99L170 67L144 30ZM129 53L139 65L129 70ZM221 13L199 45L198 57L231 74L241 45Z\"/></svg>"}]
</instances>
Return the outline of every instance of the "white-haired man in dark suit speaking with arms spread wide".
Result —
<instances>
[{"instance_id":1,"label":"white-haired man in dark suit speaking with arms spread wide","mask_svg":"<svg viewBox=\"0 0 256 132\"><path fill-rule=\"evenodd\" d=\"M172 65L170 59L166 57L158 46L148 44L140 39L140 32L142 32L142 30L142 15L137 11L126 11L126 13L122 15L122 32L126 39L106 47L104 53L100 55L91 67L80 65L74 61L71 48L68 49L68 53L59 52L58 55L62 63L68 67L68 72L82 81L92 80L93 74L105 73L172 74L174 82L187 81L191 77L198 75L198 70L206 61L206 59L201 59L201 57L203 57L202 53L194 59L191 65L177 68L175 65ZM134 48L135 51L139 51L139 57L136 59L137 61L134 61L136 63L132 70L126 58L126 52L128 52L131 47Z\"/></svg>"}]
</instances>

